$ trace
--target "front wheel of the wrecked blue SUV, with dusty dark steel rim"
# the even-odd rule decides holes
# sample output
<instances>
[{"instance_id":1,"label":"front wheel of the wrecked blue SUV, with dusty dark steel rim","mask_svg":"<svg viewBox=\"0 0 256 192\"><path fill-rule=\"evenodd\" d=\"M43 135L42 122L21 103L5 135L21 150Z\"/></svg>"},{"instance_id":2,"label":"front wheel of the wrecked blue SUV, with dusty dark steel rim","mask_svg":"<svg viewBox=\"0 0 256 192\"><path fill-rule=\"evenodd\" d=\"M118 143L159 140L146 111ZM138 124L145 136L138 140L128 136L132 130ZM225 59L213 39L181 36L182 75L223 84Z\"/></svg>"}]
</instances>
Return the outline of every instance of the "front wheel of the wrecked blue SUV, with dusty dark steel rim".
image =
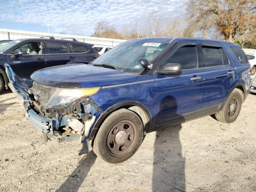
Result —
<instances>
[{"instance_id":1,"label":"front wheel of the wrecked blue SUV, with dusty dark steel rim","mask_svg":"<svg viewBox=\"0 0 256 192\"><path fill-rule=\"evenodd\" d=\"M129 159L140 147L144 126L132 111L112 112L100 126L93 142L94 153L108 163Z\"/></svg>"}]
</instances>

